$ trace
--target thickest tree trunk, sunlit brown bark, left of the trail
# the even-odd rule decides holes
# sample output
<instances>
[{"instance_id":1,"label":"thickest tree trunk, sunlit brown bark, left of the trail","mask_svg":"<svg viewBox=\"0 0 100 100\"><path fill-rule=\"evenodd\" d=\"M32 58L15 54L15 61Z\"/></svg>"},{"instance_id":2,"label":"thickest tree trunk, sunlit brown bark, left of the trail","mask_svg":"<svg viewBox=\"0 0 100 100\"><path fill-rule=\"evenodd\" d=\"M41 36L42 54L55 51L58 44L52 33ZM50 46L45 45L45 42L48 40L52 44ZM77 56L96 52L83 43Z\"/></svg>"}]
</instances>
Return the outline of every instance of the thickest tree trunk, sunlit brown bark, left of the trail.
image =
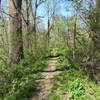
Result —
<instances>
[{"instance_id":1,"label":"thickest tree trunk, sunlit brown bark, left of the trail","mask_svg":"<svg viewBox=\"0 0 100 100\"><path fill-rule=\"evenodd\" d=\"M18 63L23 57L22 41L22 0L9 0L9 59L11 64Z\"/></svg>"}]
</instances>

